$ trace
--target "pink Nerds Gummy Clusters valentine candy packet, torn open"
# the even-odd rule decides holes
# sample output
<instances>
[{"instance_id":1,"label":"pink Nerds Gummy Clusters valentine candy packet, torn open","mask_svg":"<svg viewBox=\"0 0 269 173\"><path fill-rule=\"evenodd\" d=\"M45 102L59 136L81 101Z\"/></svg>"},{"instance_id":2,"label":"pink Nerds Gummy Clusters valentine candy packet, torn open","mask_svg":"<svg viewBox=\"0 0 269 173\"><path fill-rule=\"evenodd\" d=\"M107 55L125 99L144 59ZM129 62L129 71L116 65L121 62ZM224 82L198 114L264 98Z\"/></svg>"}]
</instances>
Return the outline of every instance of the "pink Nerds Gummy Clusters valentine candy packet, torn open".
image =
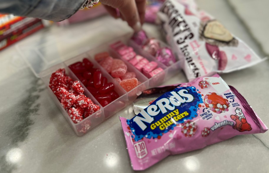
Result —
<instances>
[{"instance_id":1,"label":"pink Nerds Gummy Clusters valentine candy packet, torn open","mask_svg":"<svg viewBox=\"0 0 269 173\"><path fill-rule=\"evenodd\" d=\"M219 75L181 83L128 120L120 117L134 170L173 154L268 130L245 98Z\"/></svg>"}]
</instances>

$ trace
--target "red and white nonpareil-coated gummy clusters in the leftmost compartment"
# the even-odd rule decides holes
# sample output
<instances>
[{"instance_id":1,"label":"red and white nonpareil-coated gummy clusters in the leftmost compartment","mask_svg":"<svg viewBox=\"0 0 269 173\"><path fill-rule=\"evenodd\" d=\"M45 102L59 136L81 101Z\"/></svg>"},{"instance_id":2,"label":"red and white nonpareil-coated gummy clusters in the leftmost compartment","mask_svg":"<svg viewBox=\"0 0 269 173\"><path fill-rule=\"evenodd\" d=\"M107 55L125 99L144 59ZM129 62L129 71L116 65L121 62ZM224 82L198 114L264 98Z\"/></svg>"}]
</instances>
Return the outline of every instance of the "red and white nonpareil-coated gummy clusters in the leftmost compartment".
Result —
<instances>
[{"instance_id":1,"label":"red and white nonpareil-coated gummy clusters in the leftmost compartment","mask_svg":"<svg viewBox=\"0 0 269 173\"><path fill-rule=\"evenodd\" d=\"M74 123L79 123L100 109L83 94L84 89L79 81L73 81L65 75L65 69L59 69L51 75L49 86Z\"/></svg>"}]
</instances>

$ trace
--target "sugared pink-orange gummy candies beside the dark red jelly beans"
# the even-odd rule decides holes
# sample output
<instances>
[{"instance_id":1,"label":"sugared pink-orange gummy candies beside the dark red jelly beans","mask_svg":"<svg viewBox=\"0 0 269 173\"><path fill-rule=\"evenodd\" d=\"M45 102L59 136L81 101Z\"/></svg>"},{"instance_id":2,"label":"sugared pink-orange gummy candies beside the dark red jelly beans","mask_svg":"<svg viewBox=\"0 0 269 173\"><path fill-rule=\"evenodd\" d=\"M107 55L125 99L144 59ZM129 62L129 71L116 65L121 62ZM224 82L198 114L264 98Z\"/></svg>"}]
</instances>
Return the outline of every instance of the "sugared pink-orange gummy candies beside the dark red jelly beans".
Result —
<instances>
[{"instance_id":1,"label":"sugared pink-orange gummy candies beside the dark red jelly beans","mask_svg":"<svg viewBox=\"0 0 269 173\"><path fill-rule=\"evenodd\" d=\"M113 46L112 46L113 47ZM126 47L125 47L126 48ZM124 50L119 48L121 55L126 55L132 48ZM95 55L95 60L124 88L127 92L137 87L138 80L134 72L128 72L127 65L123 60L112 58L108 53L102 52ZM101 91L100 91L101 92Z\"/></svg>"}]
</instances>

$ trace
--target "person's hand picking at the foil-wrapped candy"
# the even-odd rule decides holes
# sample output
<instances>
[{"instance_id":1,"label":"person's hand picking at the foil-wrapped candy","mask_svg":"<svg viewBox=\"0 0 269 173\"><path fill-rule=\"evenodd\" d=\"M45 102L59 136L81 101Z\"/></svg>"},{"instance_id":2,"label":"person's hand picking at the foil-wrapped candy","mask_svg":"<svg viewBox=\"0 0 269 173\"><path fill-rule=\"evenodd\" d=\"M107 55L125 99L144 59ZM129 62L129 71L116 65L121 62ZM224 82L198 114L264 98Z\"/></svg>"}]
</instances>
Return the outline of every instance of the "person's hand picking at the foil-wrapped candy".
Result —
<instances>
[{"instance_id":1,"label":"person's hand picking at the foil-wrapped candy","mask_svg":"<svg viewBox=\"0 0 269 173\"><path fill-rule=\"evenodd\" d=\"M146 0L100 0L100 2L111 16L125 20L135 32L141 30L141 24L145 19Z\"/></svg>"}]
</instances>

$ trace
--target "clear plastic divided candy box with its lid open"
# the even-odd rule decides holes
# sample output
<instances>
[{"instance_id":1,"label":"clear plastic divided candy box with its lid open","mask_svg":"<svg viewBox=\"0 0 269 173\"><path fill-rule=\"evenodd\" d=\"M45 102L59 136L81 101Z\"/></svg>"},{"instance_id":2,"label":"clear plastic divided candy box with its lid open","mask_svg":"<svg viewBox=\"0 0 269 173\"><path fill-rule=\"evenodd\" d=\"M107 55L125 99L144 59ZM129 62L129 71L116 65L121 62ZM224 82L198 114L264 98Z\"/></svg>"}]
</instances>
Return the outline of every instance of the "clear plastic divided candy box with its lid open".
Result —
<instances>
[{"instance_id":1,"label":"clear plastic divided candy box with its lid open","mask_svg":"<svg viewBox=\"0 0 269 173\"><path fill-rule=\"evenodd\" d=\"M150 35L150 33L148 33L148 35ZM45 29L35 34L34 37L29 37L29 39L19 42L17 50L35 75L38 78L41 78L45 85L47 85L51 98L75 133L78 136L81 136L115 114L117 111L132 103L141 91L158 86L176 73L180 73L181 62L177 61L169 67L165 66L156 60L155 57L142 50L142 48L135 42L130 40L131 36L132 30L123 22L115 21L110 18L101 18L98 21L91 22L90 25L83 23L74 26L71 25L68 28L55 27ZM127 70L129 72L134 72L138 81L141 82L136 88L126 92L114 78L94 60L94 55L105 51L109 52L111 57L121 59L121 56L109 47L110 44L117 41L122 41L126 45L133 47L138 55L142 55L147 60L157 62L158 67L161 67L163 71L152 78L147 78L129 62L122 59L127 65ZM51 74L59 68L64 68L66 74L73 80L79 80L68 66L75 62L82 61L85 57L94 64L95 68L101 69L102 75L107 78L108 82L114 83L114 90L119 94L119 98L102 107L81 83L85 90L84 94L95 104L99 105L100 110L91 114L79 123L73 123L58 98L49 88L49 81Z\"/></svg>"}]
</instances>

